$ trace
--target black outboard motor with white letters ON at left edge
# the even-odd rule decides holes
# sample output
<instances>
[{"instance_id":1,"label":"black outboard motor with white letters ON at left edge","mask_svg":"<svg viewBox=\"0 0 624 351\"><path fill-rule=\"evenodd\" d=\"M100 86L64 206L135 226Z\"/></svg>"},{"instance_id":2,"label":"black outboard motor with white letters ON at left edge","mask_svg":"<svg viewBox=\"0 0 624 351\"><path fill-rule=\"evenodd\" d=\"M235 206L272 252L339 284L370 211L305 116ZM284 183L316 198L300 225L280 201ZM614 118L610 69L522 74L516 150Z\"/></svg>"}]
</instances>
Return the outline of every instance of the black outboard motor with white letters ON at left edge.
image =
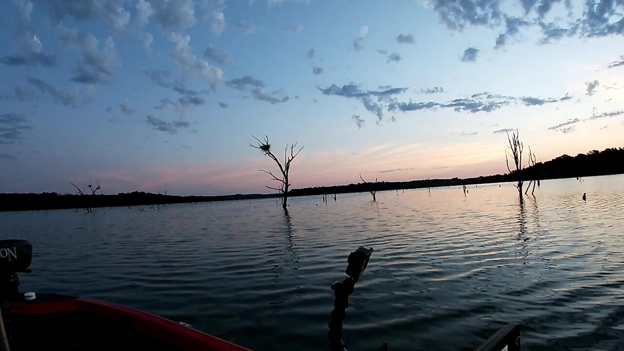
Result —
<instances>
[{"instance_id":1,"label":"black outboard motor with white letters ON at left edge","mask_svg":"<svg viewBox=\"0 0 624 351\"><path fill-rule=\"evenodd\" d=\"M32 244L26 240L0 240L0 300L19 293L17 273L30 273Z\"/></svg>"}]
</instances>

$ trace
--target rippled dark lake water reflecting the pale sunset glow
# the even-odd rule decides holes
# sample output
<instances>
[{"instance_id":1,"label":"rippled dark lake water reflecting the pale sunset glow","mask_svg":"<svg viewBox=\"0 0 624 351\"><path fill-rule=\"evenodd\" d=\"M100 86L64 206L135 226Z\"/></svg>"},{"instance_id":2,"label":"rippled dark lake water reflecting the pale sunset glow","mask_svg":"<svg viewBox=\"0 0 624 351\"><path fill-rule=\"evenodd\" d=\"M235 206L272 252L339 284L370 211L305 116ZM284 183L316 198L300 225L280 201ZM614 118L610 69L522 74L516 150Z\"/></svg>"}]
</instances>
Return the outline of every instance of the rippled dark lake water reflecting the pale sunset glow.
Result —
<instances>
[{"instance_id":1,"label":"rippled dark lake water reflecting the pale sunset glow","mask_svg":"<svg viewBox=\"0 0 624 351\"><path fill-rule=\"evenodd\" d=\"M255 350L327 350L349 252L373 257L349 350L468 350L507 322L524 350L624 349L624 176L144 207L0 213L34 245L22 291L107 300ZM581 199L587 192L587 201Z\"/></svg>"}]
</instances>

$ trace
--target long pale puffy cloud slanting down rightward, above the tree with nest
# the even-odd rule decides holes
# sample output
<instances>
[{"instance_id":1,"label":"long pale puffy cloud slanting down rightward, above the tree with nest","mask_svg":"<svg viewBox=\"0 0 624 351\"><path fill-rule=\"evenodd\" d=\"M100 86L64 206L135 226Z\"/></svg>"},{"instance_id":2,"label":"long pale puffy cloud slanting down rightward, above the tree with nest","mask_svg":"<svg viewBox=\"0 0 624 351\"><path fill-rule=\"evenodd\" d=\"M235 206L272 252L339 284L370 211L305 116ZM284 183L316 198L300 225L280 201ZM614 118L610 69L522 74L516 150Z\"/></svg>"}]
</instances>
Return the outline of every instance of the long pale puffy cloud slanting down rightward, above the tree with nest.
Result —
<instances>
[{"instance_id":1,"label":"long pale puffy cloud slanting down rightward, above the tree with nest","mask_svg":"<svg viewBox=\"0 0 624 351\"><path fill-rule=\"evenodd\" d=\"M216 92L223 83L223 71L192 54L189 46L190 36L172 32L169 40L174 46L172 57L180 64L180 67L186 72L192 72L205 79L210 84L210 89Z\"/></svg>"}]
</instances>

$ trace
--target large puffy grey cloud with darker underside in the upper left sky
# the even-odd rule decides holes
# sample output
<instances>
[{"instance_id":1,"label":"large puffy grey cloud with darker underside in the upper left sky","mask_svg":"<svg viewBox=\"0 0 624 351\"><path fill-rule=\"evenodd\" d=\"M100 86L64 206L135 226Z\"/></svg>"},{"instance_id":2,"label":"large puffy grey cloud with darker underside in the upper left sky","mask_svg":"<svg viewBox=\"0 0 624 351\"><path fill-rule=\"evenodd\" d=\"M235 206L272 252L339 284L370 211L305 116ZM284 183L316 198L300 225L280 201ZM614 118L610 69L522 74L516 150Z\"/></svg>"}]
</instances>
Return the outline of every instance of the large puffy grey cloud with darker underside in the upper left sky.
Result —
<instances>
[{"instance_id":1,"label":"large puffy grey cloud with darker underside in the upper left sky","mask_svg":"<svg viewBox=\"0 0 624 351\"><path fill-rule=\"evenodd\" d=\"M77 49L80 59L74 67L72 81L84 84L105 82L117 66L117 54L115 42L112 37L107 37L102 49L99 47L97 38L89 32L79 32L59 25L61 41Z\"/></svg>"}]
</instances>

